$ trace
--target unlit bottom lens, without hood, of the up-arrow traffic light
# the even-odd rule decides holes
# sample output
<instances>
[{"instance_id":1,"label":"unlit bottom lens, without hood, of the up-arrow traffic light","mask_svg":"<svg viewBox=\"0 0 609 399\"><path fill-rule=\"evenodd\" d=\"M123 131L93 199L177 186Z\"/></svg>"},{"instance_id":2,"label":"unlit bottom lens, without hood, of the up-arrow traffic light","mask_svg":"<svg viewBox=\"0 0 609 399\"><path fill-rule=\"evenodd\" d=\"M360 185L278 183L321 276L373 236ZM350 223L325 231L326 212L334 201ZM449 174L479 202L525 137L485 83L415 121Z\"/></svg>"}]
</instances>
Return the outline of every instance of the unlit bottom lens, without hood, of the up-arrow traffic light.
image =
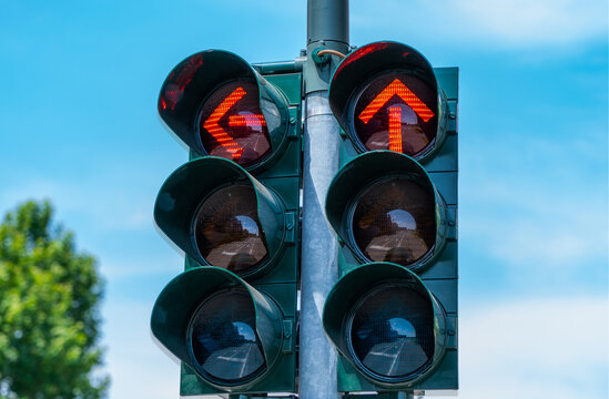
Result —
<instances>
[{"instance_id":1,"label":"unlit bottom lens, without hood, of the up-arrow traffic light","mask_svg":"<svg viewBox=\"0 0 609 399\"><path fill-rule=\"evenodd\" d=\"M432 301L407 286L373 290L355 309L351 346L362 365L382 377L423 371L435 348Z\"/></svg>"}]
</instances>

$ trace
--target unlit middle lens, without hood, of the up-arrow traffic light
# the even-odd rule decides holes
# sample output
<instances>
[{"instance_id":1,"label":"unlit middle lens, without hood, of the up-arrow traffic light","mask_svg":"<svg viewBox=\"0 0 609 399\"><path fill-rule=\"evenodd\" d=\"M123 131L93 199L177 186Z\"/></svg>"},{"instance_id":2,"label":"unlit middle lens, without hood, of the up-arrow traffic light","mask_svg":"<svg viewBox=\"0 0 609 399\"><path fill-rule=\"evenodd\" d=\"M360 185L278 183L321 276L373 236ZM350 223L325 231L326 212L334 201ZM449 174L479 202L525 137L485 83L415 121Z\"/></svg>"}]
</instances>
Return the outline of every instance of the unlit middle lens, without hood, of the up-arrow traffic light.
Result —
<instances>
[{"instance_id":1,"label":"unlit middle lens, without hood, of the up-arrow traffic light","mask_svg":"<svg viewBox=\"0 0 609 399\"><path fill-rule=\"evenodd\" d=\"M372 185L357 201L353 235L371 260L417 262L436 242L434 193L405 177Z\"/></svg>"}]
</instances>

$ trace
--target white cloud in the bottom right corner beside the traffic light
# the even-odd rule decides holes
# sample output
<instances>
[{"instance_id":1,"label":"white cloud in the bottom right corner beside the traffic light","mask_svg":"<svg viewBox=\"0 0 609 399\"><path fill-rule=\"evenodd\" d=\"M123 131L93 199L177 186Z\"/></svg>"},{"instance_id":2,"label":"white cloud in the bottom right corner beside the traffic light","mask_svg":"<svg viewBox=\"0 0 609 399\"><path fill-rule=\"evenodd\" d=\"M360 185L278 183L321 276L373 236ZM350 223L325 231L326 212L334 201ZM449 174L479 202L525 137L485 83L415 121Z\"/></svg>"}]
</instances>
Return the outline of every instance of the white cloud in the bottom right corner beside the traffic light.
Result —
<instances>
[{"instance_id":1,"label":"white cloud in the bottom right corner beside the traffic light","mask_svg":"<svg viewBox=\"0 0 609 399\"><path fill-rule=\"evenodd\" d=\"M606 398L608 311L606 297L461 304L459 396Z\"/></svg>"}]
</instances>

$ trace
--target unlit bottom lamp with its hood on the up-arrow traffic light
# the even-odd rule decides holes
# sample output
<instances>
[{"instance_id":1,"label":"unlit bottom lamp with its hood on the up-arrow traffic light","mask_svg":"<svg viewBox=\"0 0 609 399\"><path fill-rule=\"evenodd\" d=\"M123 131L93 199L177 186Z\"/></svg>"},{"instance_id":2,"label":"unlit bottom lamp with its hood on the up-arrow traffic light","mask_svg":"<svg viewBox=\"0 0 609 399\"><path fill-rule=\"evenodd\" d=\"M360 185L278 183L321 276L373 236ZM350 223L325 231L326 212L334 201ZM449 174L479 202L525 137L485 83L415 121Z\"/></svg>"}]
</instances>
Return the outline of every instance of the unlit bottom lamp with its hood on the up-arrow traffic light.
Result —
<instances>
[{"instance_id":1,"label":"unlit bottom lamp with its hood on the up-arrow traffic light","mask_svg":"<svg viewBox=\"0 0 609 399\"><path fill-rule=\"evenodd\" d=\"M342 372L339 386L349 386L346 390L413 387L434 374L449 345L441 305L417 275L390 263L345 274L327 296L323 326L339 362L346 359L372 383L362 387Z\"/></svg>"}]
</instances>

